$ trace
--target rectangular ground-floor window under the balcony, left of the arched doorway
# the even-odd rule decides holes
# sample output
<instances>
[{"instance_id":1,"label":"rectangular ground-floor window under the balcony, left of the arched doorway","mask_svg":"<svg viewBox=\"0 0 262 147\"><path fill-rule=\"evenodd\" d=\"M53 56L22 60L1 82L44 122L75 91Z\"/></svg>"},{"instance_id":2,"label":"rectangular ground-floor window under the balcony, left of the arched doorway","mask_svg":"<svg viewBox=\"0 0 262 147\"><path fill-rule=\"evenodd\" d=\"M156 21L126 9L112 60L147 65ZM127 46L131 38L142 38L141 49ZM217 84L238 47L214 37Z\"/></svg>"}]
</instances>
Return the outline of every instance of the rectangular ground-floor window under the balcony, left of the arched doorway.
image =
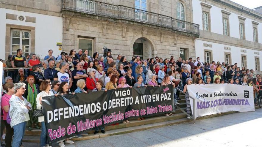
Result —
<instances>
[{"instance_id":1,"label":"rectangular ground-floor window under the balcony, left of the arched doorway","mask_svg":"<svg viewBox=\"0 0 262 147\"><path fill-rule=\"evenodd\" d=\"M81 49L83 52L88 50L88 55L92 57L94 53L94 39L78 37L78 49Z\"/></svg>"}]
</instances>

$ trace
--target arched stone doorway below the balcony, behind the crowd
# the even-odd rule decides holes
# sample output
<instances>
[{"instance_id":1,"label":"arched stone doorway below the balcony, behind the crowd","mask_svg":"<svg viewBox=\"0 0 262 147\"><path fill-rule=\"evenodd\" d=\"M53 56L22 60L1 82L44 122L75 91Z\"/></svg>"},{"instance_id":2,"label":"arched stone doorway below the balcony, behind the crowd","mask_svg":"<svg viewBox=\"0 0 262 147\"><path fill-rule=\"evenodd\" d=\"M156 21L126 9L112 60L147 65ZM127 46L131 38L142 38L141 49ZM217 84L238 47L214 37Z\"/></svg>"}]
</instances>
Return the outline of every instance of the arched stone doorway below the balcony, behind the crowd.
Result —
<instances>
[{"instance_id":1,"label":"arched stone doorway below the balcony, behind the crowd","mask_svg":"<svg viewBox=\"0 0 262 147\"><path fill-rule=\"evenodd\" d=\"M139 56L140 59L152 58L153 45L146 38L138 38L133 44L133 56Z\"/></svg>"}]
</instances>

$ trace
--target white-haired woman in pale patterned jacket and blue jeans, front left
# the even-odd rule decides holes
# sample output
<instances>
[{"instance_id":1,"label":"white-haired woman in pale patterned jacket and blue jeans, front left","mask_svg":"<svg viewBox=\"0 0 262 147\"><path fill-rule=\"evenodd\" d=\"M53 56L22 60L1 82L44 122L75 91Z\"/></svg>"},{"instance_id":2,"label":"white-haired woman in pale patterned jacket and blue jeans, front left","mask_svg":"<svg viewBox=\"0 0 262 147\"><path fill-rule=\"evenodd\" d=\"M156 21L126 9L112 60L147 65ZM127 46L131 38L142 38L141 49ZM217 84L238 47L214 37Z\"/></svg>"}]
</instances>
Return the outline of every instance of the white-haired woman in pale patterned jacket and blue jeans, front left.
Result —
<instances>
[{"instance_id":1,"label":"white-haired woman in pale patterned jacket and blue jeans, front left","mask_svg":"<svg viewBox=\"0 0 262 147\"><path fill-rule=\"evenodd\" d=\"M22 96L26 90L25 86L25 83L15 83L15 94L12 95L9 100L9 116L11 118L10 126L14 128L15 135L12 143L12 146L14 147L20 146L22 143L26 128L26 121L29 120L28 110L32 109L31 104Z\"/></svg>"}]
</instances>

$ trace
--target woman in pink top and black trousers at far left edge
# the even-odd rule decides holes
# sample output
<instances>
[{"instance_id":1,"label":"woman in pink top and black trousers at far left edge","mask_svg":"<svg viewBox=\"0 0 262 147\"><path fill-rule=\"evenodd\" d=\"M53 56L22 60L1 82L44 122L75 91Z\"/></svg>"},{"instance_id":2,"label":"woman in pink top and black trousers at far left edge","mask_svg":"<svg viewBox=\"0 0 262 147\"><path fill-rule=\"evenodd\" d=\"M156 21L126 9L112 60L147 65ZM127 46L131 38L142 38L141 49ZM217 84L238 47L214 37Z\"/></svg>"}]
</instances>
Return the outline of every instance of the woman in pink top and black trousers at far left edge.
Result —
<instances>
[{"instance_id":1,"label":"woman in pink top and black trousers at far left edge","mask_svg":"<svg viewBox=\"0 0 262 147\"><path fill-rule=\"evenodd\" d=\"M15 93L14 83L4 84L4 90L7 92L6 94L4 94L4 96L2 96L2 99L1 99L1 107L2 107L2 110L3 110L3 114L4 114L3 121L4 121L4 125L6 127L6 135L5 135L4 141L5 141L6 147L11 147L14 129L11 128L10 124L7 123L6 119L7 119L7 113L8 113L9 108L10 108L9 100L12 97L12 95Z\"/></svg>"}]
</instances>

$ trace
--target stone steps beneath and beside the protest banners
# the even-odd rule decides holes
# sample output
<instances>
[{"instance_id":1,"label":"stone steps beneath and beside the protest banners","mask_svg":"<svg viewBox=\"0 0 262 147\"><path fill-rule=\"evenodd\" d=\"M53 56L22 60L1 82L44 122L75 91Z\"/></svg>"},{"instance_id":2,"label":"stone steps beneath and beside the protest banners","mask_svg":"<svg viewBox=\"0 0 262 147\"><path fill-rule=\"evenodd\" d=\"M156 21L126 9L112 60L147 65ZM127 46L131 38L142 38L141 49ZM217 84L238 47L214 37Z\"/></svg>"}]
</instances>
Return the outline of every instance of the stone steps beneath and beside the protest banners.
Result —
<instances>
[{"instance_id":1,"label":"stone steps beneath and beside the protest banners","mask_svg":"<svg viewBox=\"0 0 262 147\"><path fill-rule=\"evenodd\" d=\"M180 98L181 100L178 100L180 105L178 106L182 108L184 111L186 111L185 96L180 95ZM256 107L256 108L259 108L259 107ZM221 115L226 115L226 114L231 114L231 113L236 113L236 111L230 111L230 112L226 112L223 114L214 114L214 115L205 116L205 117L197 118L197 119L205 119L205 118L216 117L216 116L221 116ZM71 140L88 140L88 139L142 131L146 129L158 128L158 127L193 121L192 119L186 118L186 114L183 113L180 109L176 109L173 114L174 116L158 115L154 117L145 118L145 120L141 120L141 121L133 119L133 120L130 120L130 123L125 123L125 124L120 123L119 125L106 126L105 134L102 134L101 132L99 132L98 134L94 135L93 134L94 131L90 131L88 132L89 135L87 136L83 136L82 138L74 137ZM39 143L40 134L41 134L41 129L33 129L32 131L28 131L26 129L25 136L23 137L23 142Z\"/></svg>"}]
</instances>

